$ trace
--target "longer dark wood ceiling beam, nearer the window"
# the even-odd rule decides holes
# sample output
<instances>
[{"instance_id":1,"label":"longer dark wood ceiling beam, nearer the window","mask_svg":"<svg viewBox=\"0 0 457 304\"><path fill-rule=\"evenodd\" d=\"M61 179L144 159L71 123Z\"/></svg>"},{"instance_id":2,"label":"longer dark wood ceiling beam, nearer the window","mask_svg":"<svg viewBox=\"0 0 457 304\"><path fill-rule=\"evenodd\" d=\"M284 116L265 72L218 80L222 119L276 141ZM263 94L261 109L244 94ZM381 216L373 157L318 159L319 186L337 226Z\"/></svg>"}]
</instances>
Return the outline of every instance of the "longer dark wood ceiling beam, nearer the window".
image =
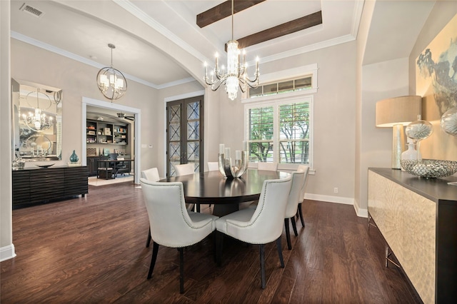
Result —
<instances>
[{"instance_id":1,"label":"longer dark wood ceiling beam, nearer the window","mask_svg":"<svg viewBox=\"0 0 457 304\"><path fill-rule=\"evenodd\" d=\"M311 26L316 26L318 24L322 24L322 11L316 11L316 13L308 16L288 21L284 24L279 24L270 29L259 31L256 34L251 34L236 40L238 41L238 48L244 49L248 46L253 46L254 44L260 44L261 42L295 33L296 31L308 29Z\"/></svg>"}]
</instances>

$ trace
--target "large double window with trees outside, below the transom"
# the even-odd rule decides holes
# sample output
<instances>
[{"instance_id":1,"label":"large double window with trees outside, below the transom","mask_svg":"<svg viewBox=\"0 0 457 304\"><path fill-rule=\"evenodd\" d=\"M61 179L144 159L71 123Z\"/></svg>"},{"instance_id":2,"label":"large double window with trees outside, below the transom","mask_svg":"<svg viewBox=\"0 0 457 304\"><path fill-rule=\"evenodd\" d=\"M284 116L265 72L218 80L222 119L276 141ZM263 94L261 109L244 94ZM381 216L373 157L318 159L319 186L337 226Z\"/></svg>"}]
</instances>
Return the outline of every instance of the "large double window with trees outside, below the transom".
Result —
<instances>
[{"instance_id":1,"label":"large double window with trees outside, below the transom","mask_svg":"<svg viewBox=\"0 0 457 304\"><path fill-rule=\"evenodd\" d=\"M249 161L311 166L313 97L303 92L293 95L246 104Z\"/></svg>"}]
</instances>

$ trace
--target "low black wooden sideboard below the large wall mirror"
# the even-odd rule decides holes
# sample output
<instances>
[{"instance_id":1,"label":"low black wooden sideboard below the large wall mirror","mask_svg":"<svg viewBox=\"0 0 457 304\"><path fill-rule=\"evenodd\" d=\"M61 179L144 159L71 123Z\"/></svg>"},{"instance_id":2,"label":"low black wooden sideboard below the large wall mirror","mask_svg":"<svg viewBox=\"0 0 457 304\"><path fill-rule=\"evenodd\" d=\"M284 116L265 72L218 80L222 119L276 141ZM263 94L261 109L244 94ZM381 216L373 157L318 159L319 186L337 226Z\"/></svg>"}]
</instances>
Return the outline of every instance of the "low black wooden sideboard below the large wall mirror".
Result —
<instances>
[{"instance_id":1,"label":"low black wooden sideboard below the large wall mirror","mask_svg":"<svg viewBox=\"0 0 457 304\"><path fill-rule=\"evenodd\" d=\"M71 196L84 197L89 191L87 166L26 168L12 171L12 174L13 208Z\"/></svg>"}]
</instances>

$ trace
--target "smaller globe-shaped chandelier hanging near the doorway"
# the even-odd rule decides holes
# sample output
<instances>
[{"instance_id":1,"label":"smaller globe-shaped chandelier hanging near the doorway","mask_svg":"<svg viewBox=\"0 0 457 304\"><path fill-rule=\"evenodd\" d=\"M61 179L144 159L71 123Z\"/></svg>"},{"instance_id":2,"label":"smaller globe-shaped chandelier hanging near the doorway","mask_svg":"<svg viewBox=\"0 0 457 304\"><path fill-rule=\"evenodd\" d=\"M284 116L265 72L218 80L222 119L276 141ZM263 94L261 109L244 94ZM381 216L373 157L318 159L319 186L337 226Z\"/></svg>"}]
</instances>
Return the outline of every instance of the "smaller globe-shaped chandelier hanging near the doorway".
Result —
<instances>
[{"instance_id":1,"label":"smaller globe-shaped chandelier hanging near the doorway","mask_svg":"<svg viewBox=\"0 0 457 304\"><path fill-rule=\"evenodd\" d=\"M127 81L121 71L113 68L113 49L114 44L108 44L111 49L111 66L106 66L97 74L97 84L101 93L111 101L124 96L127 91Z\"/></svg>"}]
</instances>

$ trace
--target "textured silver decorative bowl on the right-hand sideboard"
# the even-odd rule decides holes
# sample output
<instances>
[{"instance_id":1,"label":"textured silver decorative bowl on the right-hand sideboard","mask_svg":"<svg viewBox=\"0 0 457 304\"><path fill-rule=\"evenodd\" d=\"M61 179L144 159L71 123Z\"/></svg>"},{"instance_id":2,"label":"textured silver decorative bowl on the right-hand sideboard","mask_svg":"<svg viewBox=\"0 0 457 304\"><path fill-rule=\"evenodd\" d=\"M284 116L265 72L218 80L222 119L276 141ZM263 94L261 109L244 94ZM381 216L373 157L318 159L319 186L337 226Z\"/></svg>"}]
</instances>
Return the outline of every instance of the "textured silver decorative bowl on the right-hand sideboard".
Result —
<instances>
[{"instance_id":1,"label":"textured silver decorative bowl on the right-hand sideboard","mask_svg":"<svg viewBox=\"0 0 457 304\"><path fill-rule=\"evenodd\" d=\"M406 172L424 178L441 178L457 172L457 161L440 161L438 159L423 159L422 161L402 159L401 167Z\"/></svg>"}]
</instances>

